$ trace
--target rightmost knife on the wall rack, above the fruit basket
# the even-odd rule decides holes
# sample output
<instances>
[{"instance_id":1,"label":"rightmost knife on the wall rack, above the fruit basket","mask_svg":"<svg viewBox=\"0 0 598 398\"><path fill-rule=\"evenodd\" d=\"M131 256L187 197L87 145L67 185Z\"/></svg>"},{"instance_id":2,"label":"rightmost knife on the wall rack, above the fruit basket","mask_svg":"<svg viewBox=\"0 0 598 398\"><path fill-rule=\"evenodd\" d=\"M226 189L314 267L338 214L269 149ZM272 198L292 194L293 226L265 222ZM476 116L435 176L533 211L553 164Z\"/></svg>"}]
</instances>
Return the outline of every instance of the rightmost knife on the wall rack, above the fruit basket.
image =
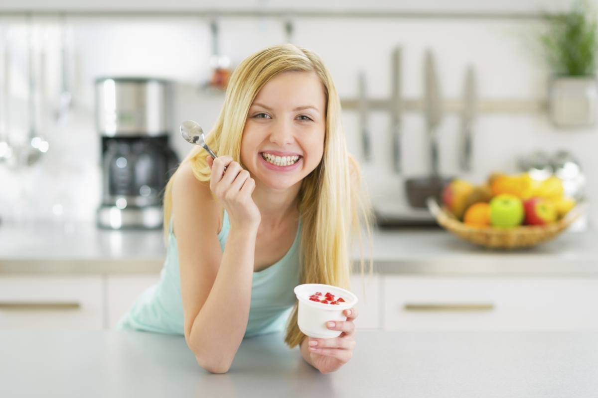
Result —
<instances>
[{"instance_id":1,"label":"rightmost knife on the wall rack, above the fruit basket","mask_svg":"<svg viewBox=\"0 0 598 398\"><path fill-rule=\"evenodd\" d=\"M469 66L465 75L463 91L463 112L461 114L461 137L459 145L459 163L463 171L471 171L472 125L477 113L474 68Z\"/></svg>"}]
</instances>

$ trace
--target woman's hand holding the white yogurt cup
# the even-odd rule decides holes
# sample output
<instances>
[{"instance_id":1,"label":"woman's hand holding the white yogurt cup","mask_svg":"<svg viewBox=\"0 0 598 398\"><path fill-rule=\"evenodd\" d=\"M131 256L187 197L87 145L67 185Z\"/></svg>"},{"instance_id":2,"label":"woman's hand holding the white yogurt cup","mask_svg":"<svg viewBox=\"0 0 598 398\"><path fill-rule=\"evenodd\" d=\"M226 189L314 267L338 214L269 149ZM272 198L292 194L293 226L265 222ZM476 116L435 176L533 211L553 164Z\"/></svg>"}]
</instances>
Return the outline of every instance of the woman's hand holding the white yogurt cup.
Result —
<instances>
[{"instance_id":1,"label":"woman's hand holding the white yogurt cup","mask_svg":"<svg viewBox=\"0 0 598 398\"><path fill-rule=\"evenodd\" d=\"M309 356L312 365L322 374L337 371L353 357L355 347L355 324L353 320L357 317L355 308L345 310L346 321L335 321L334 325L327 323L328 329L343 331L335 338L309 338ZM316 343L316 344L313 344Z\"/></svg>"}]
</instances>

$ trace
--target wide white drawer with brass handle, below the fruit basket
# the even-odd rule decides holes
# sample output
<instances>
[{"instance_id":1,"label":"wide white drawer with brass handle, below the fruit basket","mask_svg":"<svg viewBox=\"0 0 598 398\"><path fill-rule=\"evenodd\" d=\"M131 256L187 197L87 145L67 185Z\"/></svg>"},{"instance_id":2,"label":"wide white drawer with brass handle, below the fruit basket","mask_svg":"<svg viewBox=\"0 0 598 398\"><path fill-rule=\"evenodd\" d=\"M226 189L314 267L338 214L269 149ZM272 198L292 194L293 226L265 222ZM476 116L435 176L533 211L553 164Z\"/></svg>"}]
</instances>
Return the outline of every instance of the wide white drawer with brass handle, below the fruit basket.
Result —
<instances>
[{"instance_id":1,"label":"wide white drawer with brass handle, below the fruit basket","mask_svg":"<svg viewBox=\"0 0 598 398\"><path fill-rule=\"evenodd\" d=\"M387 276L386 330L598 330L598 279Z\"/></svg>"}]
</instances>

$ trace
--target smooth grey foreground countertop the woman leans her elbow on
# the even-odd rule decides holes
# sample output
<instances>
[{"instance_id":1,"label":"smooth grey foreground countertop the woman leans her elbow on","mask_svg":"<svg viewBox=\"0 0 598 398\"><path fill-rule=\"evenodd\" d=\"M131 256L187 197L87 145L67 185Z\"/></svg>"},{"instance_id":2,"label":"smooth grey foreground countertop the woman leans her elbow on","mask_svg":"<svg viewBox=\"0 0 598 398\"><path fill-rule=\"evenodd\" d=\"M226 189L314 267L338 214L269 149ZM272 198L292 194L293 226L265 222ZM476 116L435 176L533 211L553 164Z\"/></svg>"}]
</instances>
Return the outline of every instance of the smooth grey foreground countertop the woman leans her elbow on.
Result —
<instances>
[{"instance_id":1,"label":"smooth grey foreground countertop the woman leans her elbow on","mask_svg":"<svg viewBox=\"0 0 598 398\"><path fill-rule=\"evenodd\" d=\"M598 333L359 331L353 359L322 375L281 334L249 338L227 374L183 337L0 331L2 397L591 397Z\"/></svg>"}]
</instances>

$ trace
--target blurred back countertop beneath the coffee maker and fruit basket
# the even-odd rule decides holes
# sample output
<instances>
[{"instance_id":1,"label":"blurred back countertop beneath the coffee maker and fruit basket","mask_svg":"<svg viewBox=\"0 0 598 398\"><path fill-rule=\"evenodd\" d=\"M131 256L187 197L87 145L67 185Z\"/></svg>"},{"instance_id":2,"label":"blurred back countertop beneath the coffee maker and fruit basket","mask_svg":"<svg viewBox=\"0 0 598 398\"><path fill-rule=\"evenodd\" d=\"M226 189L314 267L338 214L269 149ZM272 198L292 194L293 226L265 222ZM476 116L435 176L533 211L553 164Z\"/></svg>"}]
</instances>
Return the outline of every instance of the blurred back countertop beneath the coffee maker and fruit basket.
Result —
<instances>
[{"instance_id":1,"label":"blurred back countertop beneath the coffee maker and fruit basket","mask_svg":"<svg viewBox=\"0 0 598 398\"><path fill-rule=\"evenodd\" d=\"M372 254L375 270L382 274L596 277L596 242L598 232L566 232L536 248L492 251L440 229L374 230ZM162 267L164 252L161 230L102 230L92 223L0 226L3 274L155 274ZM358 245L352 257L358 260Z\"/></svg>"}]
</instances>

